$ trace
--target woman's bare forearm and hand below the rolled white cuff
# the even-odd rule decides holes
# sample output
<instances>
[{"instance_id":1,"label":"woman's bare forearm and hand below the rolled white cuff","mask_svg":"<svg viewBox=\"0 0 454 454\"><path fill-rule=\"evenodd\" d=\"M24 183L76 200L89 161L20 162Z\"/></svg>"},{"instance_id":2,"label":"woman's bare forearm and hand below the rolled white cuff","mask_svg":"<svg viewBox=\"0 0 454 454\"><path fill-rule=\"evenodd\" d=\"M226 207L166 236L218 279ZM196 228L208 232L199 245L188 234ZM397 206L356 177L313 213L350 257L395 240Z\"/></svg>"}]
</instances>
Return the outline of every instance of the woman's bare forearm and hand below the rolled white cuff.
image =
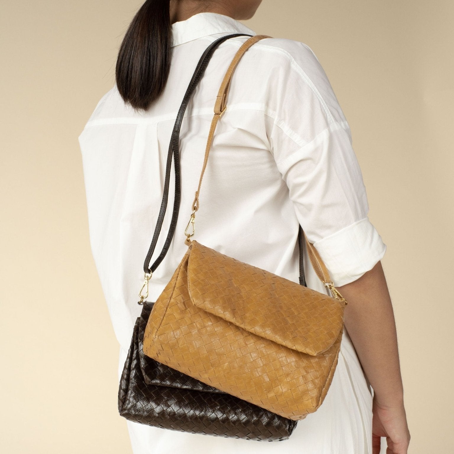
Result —
<instances>
[{"instance_id":1,"label":"woman's bare forearm and hand below the rolled white cuff","mask_svg":"<svg viewBox=\"0 0 454 454\"><path fill-rule=\"evenodd\" d=\"M380 437L387 437L390 454L407 454L410 433L395 320L381 262L356 281L337 289L348 302L345 327L374 389L373 453L380 453Z\"/></svg>"}]
</instances>

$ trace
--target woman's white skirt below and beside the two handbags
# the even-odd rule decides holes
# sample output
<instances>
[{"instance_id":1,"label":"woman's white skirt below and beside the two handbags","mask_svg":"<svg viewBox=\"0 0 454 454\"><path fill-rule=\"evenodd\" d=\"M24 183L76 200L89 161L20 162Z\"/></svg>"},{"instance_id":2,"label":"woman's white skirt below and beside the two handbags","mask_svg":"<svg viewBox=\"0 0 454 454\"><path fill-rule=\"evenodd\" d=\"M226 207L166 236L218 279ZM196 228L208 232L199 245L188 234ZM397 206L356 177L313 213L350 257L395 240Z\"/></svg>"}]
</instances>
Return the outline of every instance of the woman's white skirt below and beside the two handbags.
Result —
<instances>
[{"instance_id":1,"label":"woman's white skirt below and beside the two handbags","mask_svg":"<svg viewBox=\"0 0 454 454\"><path fill-rule=\"evenodd\" d=\"M126 355L120 349L118 376ZM223 438L125 422L133 454L372 454L372 392L345 328L325 400L298 421L287 440Z\"/></svg>"}]
</instances>

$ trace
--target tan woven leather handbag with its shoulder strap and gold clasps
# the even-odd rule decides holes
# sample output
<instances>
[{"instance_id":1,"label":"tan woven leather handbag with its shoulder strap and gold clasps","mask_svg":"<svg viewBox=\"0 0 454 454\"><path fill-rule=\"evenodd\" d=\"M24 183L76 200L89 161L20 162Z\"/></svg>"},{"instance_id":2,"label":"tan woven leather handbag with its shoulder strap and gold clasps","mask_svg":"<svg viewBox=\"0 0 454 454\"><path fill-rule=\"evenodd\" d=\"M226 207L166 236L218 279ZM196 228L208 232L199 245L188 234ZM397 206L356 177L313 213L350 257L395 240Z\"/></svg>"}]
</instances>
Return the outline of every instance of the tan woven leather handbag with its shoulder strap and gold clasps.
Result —
<instances>
[{"instance_id":1,"label":"tan woven leather handbag with its shoulder strap and gold clasps","mask_svg":"<svg viewBox=\"0 0 454 454\"><path fill-rule=\"evenodd\" d=\"M315 247L305 236L312 266L333 297L191 240L202 177L233 71L247 49L263 38L269 36L255 35L241 46L222 81L185 230L188 251L154 304L143 352L207 385L300 420L319 408L331 384L346 305ZM151 272L145 274L143 288L150 277ZM140 296L143 301L142 291Z\"/></svg>"}]
</instances>

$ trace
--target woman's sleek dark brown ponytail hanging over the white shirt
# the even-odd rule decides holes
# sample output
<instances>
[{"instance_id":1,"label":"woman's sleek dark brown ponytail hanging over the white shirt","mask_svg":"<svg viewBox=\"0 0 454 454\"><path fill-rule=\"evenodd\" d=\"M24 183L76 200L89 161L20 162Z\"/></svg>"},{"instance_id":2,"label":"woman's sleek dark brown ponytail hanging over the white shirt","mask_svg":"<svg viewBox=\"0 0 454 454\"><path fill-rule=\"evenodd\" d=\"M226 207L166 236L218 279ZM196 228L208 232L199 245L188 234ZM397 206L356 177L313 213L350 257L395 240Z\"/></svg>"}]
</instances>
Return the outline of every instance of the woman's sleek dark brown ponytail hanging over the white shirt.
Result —
<instances>
[{"instance_id":1,"label":"woman's sleek dark brown ponytail hanging over the white shirt","mask_svg":"<svg viewBox=\"0 0 454 454\"><path fill-rule=\"evenodd\" d=\"M147 0L134 16L118 51L118 92L136 111L147 110L168 79L172 39L169 3Z\"/></svg>"}]
</instances>

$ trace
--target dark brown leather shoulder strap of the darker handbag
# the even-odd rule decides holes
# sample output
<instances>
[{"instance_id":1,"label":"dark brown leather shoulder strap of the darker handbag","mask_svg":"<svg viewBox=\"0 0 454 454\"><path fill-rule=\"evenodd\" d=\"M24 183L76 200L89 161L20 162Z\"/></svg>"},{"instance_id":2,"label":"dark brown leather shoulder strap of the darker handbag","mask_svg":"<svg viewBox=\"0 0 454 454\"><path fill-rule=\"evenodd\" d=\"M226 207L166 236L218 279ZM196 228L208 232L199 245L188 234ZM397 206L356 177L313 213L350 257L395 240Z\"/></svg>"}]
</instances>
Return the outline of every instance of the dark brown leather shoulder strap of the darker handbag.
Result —
<instances>
[{"instance_id":1,"label":"dark brown leather shoulder strap of the darker handbag","mask_svg":"<svg viewBox=\"0 0 454 454\"><path fill-rule=\"evenodd\" d=\"M236 36L252 36L247 35L244 33L235 33L232 35L225 35L221 38L218 38L216 41L212 42L205 52L200 57L197 67L192 75L192 79L188 85L188 89L183 97L183 102L181 103L180 109L178 110L177 118L175 120L175 124L173 126L172 135L170 138L168 155L167 155L167 163L166 163L166 173L165 173L165 181L164 181L164 193L163 193L163 200L161 202L161 208L159 210L158 222L156 224L156 228L154 230L153 239L151 245L148 249L147 257L145 258L145 262L143 264L143 271L146 275L151 275L153 271L158 268L159 264L163 261L163 258L166 256L168 249L170 247L170 243L172 242L173 235L175 233L175 227L178 220L178 212L180 208L180 199L181 199L181 181L180 181L180 153L179 153L179 134L181 129L181 123L183 121L184 112L188 107L189 100L191 99L192 93L196 88L197 84L202 79L203 74L205 73L205 69L207 68L208 62L210 61L212 55L216 48L225 40L236 37ZM170 222L169 231L164 242L163 250L159 254L158 258L153 262L153 265L150 266L150 260L153 255L153 252L156 247L156 243L158 242L159 233L161 232L161 228L163 226L164 215L167 210L167 202L168 202L168 193L169 193L169 184L170 184L170 169L172 166L172 155L173 155L173 162L175 167L175 197L173 201L173 212L172 212L172 219ZM299 227L298 231L298 245L300 249L300 277L299 281L301 285L306 286L306 279L304 275L304 266L303 266L303 241L302 241L302 229L301 226Z\"/></svg>"}]
</instances>

